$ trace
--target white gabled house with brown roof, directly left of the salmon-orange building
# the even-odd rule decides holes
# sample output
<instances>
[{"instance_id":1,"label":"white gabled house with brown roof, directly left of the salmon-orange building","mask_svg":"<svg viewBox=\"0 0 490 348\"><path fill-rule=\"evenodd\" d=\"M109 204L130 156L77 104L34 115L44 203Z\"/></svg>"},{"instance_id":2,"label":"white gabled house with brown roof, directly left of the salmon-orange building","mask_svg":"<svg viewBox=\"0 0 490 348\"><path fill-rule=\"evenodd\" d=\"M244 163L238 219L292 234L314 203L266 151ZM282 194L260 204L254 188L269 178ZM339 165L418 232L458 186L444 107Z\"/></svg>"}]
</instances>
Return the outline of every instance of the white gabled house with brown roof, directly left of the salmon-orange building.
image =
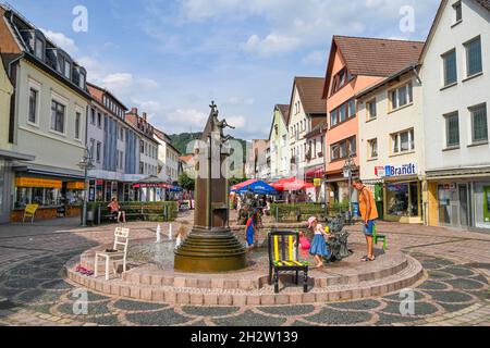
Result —
<instances>
[{"instance_id":1,"label":"white gabled house with brown roof, directly left of the salmon-orange building","mask_svg":"<svg viewBox=\"0 0 490 348\"><path fill-rule=\"evenodd\" d=\"M291 95L290 116L287 120L290 138L291 175L305 179L305 173L313 169L306 135L324 122L327 116L321 92L324 79L321 77L296 77ZM323 163L320 165L320 170Z\"/></svg>"}]
</instances>

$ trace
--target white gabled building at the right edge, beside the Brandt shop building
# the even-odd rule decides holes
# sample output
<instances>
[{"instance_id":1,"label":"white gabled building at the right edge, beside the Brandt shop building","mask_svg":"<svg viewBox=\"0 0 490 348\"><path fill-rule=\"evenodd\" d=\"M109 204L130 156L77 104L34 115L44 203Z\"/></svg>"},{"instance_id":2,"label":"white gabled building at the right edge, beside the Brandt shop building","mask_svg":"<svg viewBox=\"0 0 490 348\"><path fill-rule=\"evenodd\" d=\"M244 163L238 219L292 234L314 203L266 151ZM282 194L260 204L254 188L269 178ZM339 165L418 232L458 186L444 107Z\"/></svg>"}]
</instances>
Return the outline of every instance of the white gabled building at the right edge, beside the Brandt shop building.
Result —
<instances>
[{"instance_id":1,"label":"white gabled building at the right edge, beside the Brandt shop building","mask_svg":"<svg viewBox=\"0 0 490 348\"><path fill-rule=\"evenodd\" d=\"M443 0L421 55L428 223L490 229L490 2Z\"/></svg>"}]
</instances>

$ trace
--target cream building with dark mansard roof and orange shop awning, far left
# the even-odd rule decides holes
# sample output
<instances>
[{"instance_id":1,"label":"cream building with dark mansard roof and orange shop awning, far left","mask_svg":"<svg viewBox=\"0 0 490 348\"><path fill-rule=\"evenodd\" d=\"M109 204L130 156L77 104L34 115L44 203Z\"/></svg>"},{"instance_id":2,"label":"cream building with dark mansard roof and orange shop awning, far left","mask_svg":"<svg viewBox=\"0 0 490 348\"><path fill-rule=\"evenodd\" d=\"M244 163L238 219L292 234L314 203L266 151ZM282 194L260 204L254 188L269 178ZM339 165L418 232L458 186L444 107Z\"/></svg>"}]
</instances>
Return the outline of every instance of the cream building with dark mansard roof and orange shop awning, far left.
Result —
<instances>
[{"instance_id":1,"label":"cream building with dark mansard roof and orange shop awning, far left","mask_svg":"<svg viewBox=\"0 0 490 348\"><path fill-rule=\"evenodd\" d=\"M90 101L86 71L12 9L0 7L0 16L2 59L14 87L8 139L13 151L35 158L12 164L11 220L29 203L40 206L41 219L77 215Z\"/></svg>"}]
</instances>

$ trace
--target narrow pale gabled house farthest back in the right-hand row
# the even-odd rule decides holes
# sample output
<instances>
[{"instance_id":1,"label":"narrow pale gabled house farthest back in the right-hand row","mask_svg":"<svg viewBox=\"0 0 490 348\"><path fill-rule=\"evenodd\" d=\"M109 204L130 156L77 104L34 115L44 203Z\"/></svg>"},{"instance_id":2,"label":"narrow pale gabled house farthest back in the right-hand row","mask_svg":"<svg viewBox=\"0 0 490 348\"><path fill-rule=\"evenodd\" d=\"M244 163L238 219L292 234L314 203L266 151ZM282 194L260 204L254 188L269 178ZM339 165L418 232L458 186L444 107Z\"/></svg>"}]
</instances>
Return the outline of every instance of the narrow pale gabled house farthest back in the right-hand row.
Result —
<instances>
[{"instance_id":1,"label":"narrow pale gabled house farthest back in the right-hand row","mask_svg":"<svg viewBox=\"0 0 490 348\"><path fill-rule=\"evenodd\" d=\"M290 174L290 142L287 119L290 105L274 107L272 125L269 134L270 142L270 176L271 181L285 178Z\"/></svg>"}]
</instances>

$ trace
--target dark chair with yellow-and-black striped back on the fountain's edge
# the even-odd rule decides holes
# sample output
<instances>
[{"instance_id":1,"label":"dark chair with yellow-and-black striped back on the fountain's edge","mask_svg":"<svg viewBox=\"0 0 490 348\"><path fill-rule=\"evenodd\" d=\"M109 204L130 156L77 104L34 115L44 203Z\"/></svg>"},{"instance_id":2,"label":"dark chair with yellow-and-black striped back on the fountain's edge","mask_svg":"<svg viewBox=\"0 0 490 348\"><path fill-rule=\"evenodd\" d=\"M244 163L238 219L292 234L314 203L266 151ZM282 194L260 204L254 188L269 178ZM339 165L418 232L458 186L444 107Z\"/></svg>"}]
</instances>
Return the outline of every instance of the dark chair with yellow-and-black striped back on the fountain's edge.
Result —
<instances>
[{"instance_id":1,"label":"dark chair with yellow-and-black striped back on the fountain's edge","mask_svg":"<svg viewBox=\"0 0 490 348\"><path fill-rule=\"evenodd\" d=\"M308 291L309 262L298 260L299 233L273 231L269 234L269 284L274 284L279 294L279 275L283 272L295 273L295 283L299 285L299 272L303 272L303 291Z\"/></svg>"}]
</instances>

